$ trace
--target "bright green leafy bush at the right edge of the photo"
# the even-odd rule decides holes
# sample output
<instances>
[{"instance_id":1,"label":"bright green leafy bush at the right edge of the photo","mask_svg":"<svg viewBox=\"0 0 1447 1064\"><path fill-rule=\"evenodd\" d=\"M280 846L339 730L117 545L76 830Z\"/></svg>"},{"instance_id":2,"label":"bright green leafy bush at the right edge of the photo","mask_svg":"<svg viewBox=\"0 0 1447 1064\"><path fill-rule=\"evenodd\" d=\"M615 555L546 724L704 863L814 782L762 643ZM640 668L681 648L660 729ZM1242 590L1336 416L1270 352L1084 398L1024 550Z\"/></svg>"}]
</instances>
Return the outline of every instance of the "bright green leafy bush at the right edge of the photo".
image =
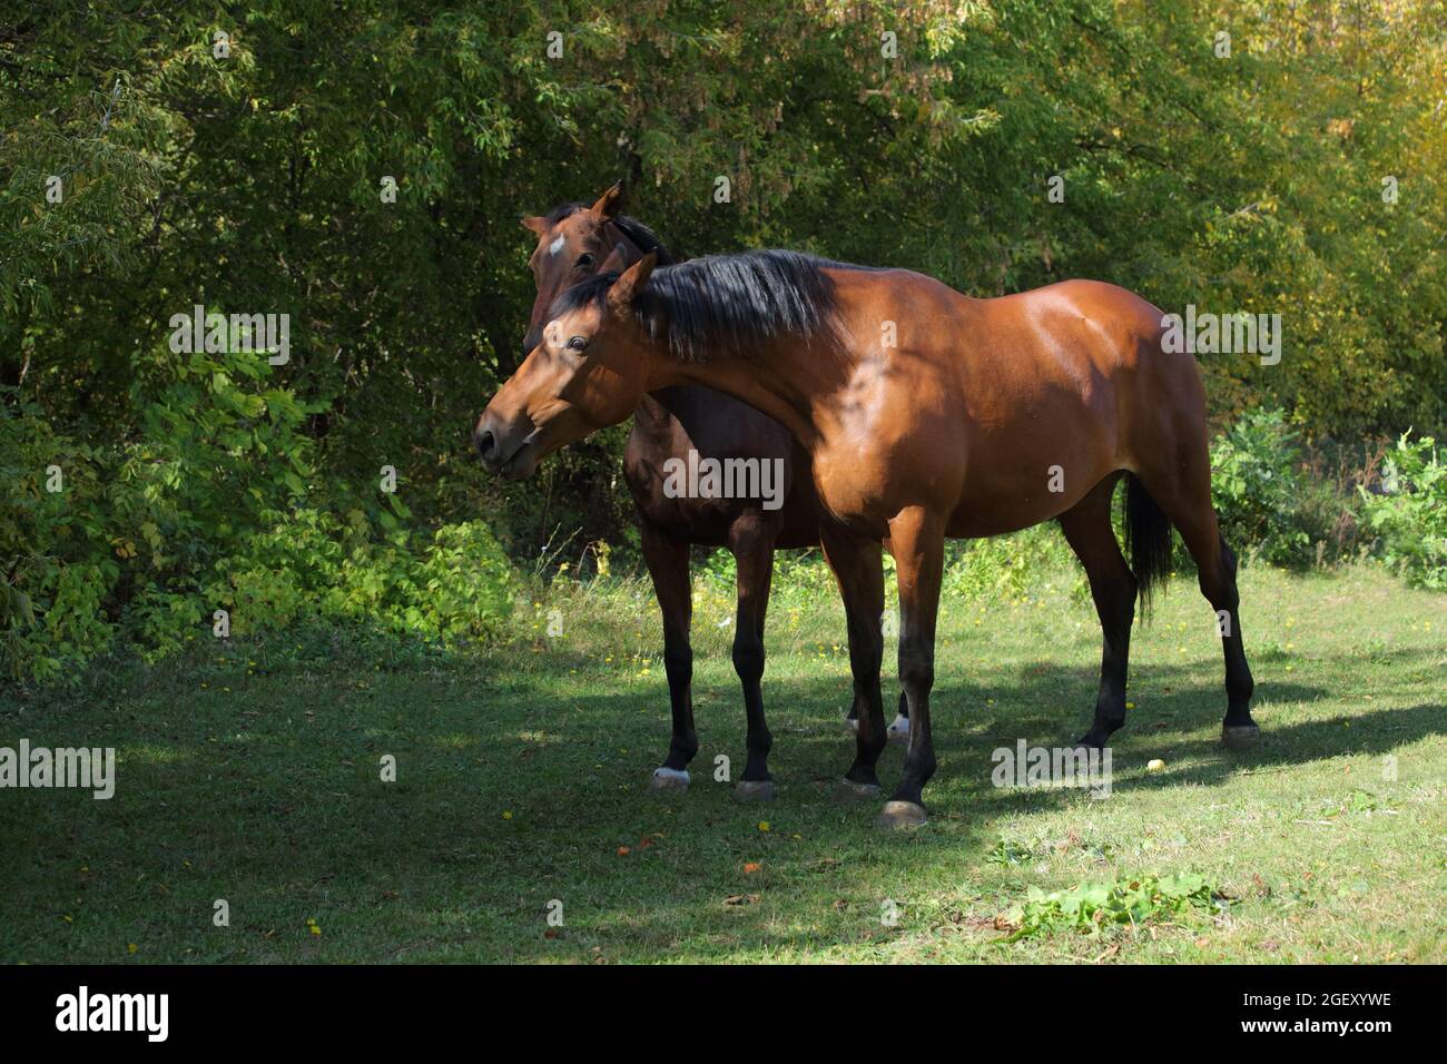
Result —
<instances>
[{"instance_id":1,"label":"bright green leafy bush at the right edge of the photo","mask_svg":"<svg viewBox=\"0 0 1447 1064\"><path fill-rule=\"evenodd\" d=\"M1386 563L1424 588L1447 591L1447 462L1437 442L1404 433L1382 460L1380 494L1359 491Z\"/></svg>"}]
</instances>

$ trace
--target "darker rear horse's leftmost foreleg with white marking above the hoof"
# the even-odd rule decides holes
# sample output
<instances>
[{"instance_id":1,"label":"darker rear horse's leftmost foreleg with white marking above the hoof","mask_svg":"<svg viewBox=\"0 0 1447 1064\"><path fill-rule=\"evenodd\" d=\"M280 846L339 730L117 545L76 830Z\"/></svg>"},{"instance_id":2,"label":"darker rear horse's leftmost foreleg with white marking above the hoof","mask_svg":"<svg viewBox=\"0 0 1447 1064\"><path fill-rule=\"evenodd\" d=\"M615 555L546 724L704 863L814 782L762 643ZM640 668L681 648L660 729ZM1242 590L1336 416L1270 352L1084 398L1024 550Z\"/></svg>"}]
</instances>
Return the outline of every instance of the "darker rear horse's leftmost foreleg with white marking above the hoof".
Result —
<instances>
[{"instance_id":1,"label":"darker rear horse's leftmost foreleg with white marking above the hoof","mask_svg":"<svg viewBox=\"0 0 1447 1064\"><path fill-rule=\"evenodd\" d=\"M669 675L669 704L673 711L673 740L669 757L653 770L651 790L683 790L689 786L689 761L699 751L693 731L693 595L689 586L689 544L664 536L648 518L640 521L642 557L663 609L663 664Z\"/></svg>"}]
</instances>

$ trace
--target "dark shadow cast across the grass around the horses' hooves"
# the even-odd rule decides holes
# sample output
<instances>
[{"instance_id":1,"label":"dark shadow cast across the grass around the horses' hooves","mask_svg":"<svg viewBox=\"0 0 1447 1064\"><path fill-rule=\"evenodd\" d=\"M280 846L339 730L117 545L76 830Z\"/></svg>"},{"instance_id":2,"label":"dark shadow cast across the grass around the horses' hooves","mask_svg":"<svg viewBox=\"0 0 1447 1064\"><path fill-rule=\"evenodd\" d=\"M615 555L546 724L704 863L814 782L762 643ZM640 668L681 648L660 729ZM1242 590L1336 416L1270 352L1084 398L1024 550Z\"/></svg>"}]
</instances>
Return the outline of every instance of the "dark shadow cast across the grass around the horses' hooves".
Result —
<instances>
[{"instance_id":1,"label":"dark shadow cast across the grass around the horses' hooves","mask_svg":"<svg viewBox=\"0 0 1447 1064\"><path fill-rule=\"evenodd\" d=\"M1433 662L1425 651L1392 656L1398 669ZM232 676L242 663L217 667ZM563 693L553 672L566 659L506 685L495 682L496 662L428 664L360 679L313 666L242 675L224 696L158 672L136 692L117 682L119 705L64 699L0 715L0 744L23 735L120 753L110 802L36 790L0 805L0 960L124 960L127 942L143 944L137 960L232 961L589 960L593 950L641 960L680 942L719 958L887 948L881 892L904 892L920 866L980 861L1001 816L1088 801L990 783L996 747L1065 746L1088 727L1094 670L1079 666L1027 664L994 683L942 676L932 824L881 835L877 802L829 801L852 757L838 712L842 664L838 676L767 683L780 785L768 806L741 806L710 779L716 754L742 763L732 685L700 699L693 789L653 796L648 773L669 737L661 676L637 692L619 691L631 680L616 676L583 677L587 689ZM1243 770L1379 754L1447 732L1444 706L1431 702L1357 712L1350 727L1343 715L1275 724L1272 705L1310 708L1346 692L1268 679L1257 689L1260 746L1230 753L1215 740L1215 667L1152 663L1139 679L1171 693L1143 696L1117 734L1116 772L1158 750L1181 764L1119 779L1117 793L1214 786ZM386 754L395 783L381 780ZM899 770L891 747L886 790ZM739 896L745 903L725 903ZM210 921L218 898L232 905L227 931ZM554 899L566 922L547 938Z\"/></svg>"}]
</instances>

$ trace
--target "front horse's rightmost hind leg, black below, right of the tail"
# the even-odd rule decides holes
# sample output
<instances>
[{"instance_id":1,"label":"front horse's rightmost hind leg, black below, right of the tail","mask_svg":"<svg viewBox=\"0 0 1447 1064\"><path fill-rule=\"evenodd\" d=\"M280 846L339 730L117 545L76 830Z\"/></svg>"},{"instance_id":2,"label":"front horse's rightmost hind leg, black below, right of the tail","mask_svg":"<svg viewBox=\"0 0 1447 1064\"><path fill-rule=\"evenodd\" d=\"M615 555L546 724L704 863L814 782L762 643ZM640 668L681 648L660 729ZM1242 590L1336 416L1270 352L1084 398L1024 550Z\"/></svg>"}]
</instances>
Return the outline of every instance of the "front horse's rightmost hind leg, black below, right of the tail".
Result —
<instances>
[{"instance_id":1,"label":"front horse's rightmost hind leg, black below, right of the tail","mask_svg":"<svg viewBox=\"0 0 1447 1064\"><path fill-rule=\"evenodd\" d=\"M1236 591L1236 554L1226 544L1211 505L1211 465L1205 446L1191 450L1176 475L1140 481L1165 511L1195 559L1201 594L1215 611L1217 633L1226 656L1226 719L1221 741L1233 748L1252 746L1260 728L1252 719L1252 670L1242 641L1240 595Z\"/></svg>"}]
</instances>

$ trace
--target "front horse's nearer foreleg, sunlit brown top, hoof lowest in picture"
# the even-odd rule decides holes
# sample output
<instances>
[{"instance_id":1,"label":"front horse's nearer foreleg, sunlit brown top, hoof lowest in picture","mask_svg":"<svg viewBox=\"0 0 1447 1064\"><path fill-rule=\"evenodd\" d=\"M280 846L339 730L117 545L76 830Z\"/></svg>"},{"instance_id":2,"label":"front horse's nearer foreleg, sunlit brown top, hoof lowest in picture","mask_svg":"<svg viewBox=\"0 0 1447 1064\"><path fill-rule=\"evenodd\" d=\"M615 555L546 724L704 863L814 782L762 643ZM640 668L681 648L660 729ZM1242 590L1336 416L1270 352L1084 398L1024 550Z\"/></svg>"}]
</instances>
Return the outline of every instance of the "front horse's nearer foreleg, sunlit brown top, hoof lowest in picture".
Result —
<instances>
[{"instance_id":1,"label":"front horse's nearer foreleg, sunlit brown top, hoof lowest in picture","mask_svg":"<svg viewBox=\"0 0 1447 1064\"><path fill-rule=\"evenodd\" d=\"M890 521L894 570L900 585L900 683L909 699L909 748L904 776L886 802L880 825L925 822L923 790L935 774L935 741L929 728L929 691L935 685L935 620L945 562L943 518L910 507Z\"/></svg>"}]
</instances>

